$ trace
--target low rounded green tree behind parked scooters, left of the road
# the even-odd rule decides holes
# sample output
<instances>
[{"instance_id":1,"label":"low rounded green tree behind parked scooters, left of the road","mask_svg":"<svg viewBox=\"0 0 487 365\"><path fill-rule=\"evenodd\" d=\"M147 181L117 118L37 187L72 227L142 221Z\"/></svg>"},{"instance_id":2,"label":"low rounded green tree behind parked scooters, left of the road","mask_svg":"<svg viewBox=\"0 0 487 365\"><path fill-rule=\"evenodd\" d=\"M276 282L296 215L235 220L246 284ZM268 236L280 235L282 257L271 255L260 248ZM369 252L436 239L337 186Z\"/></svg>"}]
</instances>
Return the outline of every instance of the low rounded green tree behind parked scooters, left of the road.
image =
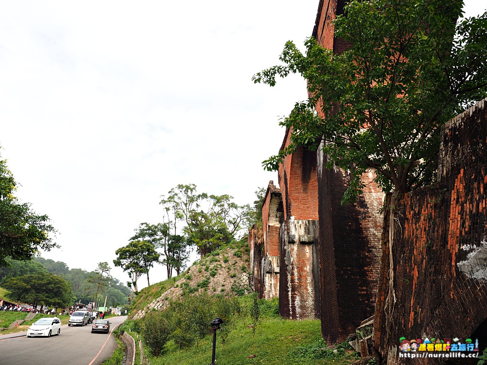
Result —
<instances>
[{"instance_id":1,"label":"low rounded green tree behind parked scooters, left of the road","mask_svg":"<svg viewBox=\"0 0 487 365\"><path fill-rule=\"evenodd\" d=\"M37 305L65 307L74 303L71 284L61 276L51 273L13 277L5 281L2 286L10 292L10 298L34 307Z\"/></svg>"}]
</instances>

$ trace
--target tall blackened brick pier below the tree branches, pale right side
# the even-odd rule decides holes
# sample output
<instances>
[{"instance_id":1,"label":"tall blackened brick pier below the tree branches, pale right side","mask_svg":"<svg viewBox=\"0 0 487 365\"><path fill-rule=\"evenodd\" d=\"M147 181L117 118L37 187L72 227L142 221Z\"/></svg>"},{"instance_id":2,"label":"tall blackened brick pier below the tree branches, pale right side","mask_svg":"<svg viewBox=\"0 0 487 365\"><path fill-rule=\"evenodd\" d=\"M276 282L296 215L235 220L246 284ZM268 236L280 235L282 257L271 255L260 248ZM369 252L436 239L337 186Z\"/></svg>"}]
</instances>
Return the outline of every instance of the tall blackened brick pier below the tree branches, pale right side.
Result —
<instances>
[{"instance_id":1,"label":"tall blackened brick pier below the tree branches, pale right side","mask_svg":"<svg viewBox=\"0 0 487 365\"><path fill-rule=\"evenodd\" d=\"M324 168L325 158L318 152L321 333L335 343L374 314L384 195L373 182L375 174L366 173L363 194L355 204L342 206L350 176Z\"/></svg>"}]
</instances>

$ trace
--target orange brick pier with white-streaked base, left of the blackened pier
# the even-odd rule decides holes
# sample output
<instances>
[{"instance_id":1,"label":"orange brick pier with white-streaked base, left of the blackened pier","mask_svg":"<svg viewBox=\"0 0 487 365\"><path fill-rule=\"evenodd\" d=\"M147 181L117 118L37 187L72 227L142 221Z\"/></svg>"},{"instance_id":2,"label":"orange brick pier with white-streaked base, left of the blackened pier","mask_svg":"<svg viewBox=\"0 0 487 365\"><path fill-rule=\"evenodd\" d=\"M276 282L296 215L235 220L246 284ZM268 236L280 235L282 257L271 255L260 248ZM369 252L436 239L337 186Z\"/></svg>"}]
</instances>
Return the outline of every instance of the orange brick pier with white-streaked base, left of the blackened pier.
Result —
<instances>
[{"instance_id":1,"label":"orange brick pier with white-streaked base, left of the blackened pier","mask_svg":"<svg viewBox=\"0 0 487 365\"><path fill-rule=\"evenodd\" d=\"M281 149L289 145L291 133L292 130L286 130ZM318 177L316 152L300 147L291 155L286 156L279 166L279 186L284 212L279 236L279 310L281 316L286 318L318 318ZM301 224L300 222L305 223ZM301 236L310 235L302 231L306 229L311 229L311 234L315 235L315 238L303 243L305 239ZM296 242L295 238L289 236L296 235L292 233L295 230L298 232L297 243L294 243Z\"/></svg>"}]
</instances>

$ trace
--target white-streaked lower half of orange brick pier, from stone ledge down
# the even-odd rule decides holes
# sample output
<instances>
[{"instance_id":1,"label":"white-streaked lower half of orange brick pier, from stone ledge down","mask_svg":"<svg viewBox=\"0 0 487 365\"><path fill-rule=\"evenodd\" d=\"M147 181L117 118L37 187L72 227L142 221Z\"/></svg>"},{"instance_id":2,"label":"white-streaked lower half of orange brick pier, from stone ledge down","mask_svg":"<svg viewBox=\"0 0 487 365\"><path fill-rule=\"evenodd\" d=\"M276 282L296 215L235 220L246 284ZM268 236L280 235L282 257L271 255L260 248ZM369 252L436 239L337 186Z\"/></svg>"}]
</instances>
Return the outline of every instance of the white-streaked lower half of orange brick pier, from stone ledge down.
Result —
<instances>
[{"instance_id":1,"label":"white-streaked lower half of orange brick pier, from stone ledge down","mask_svg":"<svg viewBox=\"0 0 487 365\"><path fill-rule=\"evenodd\" d=\"M279 314L319 318L318 221L286 220L281 225Z\"/></svg>"}]
</instances>

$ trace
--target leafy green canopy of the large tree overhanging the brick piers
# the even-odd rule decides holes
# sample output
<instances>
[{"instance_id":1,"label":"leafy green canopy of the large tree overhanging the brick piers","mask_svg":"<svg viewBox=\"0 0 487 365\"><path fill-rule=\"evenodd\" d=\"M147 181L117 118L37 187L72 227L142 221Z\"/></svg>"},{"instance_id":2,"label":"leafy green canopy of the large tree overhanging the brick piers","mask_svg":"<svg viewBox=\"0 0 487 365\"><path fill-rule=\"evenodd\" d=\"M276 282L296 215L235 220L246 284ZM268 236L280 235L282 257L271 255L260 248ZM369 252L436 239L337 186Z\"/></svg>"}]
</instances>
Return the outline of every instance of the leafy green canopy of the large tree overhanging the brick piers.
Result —
<instances>
[{"instance_id":1,"label":"leafy green canopy of the large tree overhanging the brick piers","mask_svg":"<svg viewBox=\"0 0 487 365\"><path fill-rule=\"evenodd\" d=\"M274 86L276 76L300 73L310 96L281 120L293 131L291 144L265 168L277 169L304 145L322 148L328 168L351 171L345 201L371 168L385 192L432 183L441 126L487 96L487 13L455 27L462 7L459 0L351 1L334 23L347 51L334 54L309 38L303 55L287 42L285 65L253 80Z\"/></svg>"}]
</instances>

